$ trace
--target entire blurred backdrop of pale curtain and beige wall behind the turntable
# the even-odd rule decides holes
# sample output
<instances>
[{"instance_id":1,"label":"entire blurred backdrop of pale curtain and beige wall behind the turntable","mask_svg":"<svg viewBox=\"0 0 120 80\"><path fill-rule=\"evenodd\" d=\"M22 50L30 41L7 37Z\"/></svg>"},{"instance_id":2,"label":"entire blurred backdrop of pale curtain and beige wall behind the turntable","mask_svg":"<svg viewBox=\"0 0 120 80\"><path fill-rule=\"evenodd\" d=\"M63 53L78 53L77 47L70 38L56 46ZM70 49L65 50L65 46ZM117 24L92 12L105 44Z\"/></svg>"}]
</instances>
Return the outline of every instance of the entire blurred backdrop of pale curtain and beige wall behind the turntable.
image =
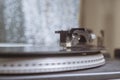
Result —
<instances>
[{"instance_id":1,"label":"entire blurred backdrop of pale curtain and beige wall behind the turntable","mask_svg":"<svg viewBox=\"0 0 120 80\"><path fill-rule=\"evenodd\" d=\"M0 42L51 45L58 39L54 31L85 27L114 57L119 7L120 0L0 0Z\"/></svg>"}]
</instances>

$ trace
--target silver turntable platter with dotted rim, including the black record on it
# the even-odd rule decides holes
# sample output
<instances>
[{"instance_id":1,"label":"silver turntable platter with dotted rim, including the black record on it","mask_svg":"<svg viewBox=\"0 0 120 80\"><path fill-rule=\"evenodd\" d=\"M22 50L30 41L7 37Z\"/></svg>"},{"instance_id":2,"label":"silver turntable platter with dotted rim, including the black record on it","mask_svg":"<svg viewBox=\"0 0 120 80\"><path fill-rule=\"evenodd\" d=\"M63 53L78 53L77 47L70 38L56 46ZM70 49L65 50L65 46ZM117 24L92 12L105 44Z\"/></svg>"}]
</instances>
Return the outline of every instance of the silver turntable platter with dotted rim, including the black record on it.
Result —
<instances>
[{"instance_id":1,"label":"silver turntable platter with dotted rim, including the black record on it","mask_svg":"<svg viewBox=\"0 0 120 80\"><path fill-rule=\"evenodd\" d=\"M1 47L0 74L33 74L93 68L105 64L99 49Z\"/></svg>"}]
</instances>

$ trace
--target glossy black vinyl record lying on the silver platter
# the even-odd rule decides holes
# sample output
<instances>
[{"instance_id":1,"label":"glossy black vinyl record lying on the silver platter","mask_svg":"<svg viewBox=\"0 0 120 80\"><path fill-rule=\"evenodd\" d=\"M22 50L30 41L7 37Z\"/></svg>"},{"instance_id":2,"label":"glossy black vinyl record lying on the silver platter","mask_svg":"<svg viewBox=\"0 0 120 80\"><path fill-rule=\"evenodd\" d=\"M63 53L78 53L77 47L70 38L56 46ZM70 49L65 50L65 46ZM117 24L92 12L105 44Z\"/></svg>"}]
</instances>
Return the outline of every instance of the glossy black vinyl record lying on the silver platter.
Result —
<instances>
[{"instance_id":1,"label":"glossy black vinyl record lying on the silver platter","mask_svg":"<svg viewBox=\"0 0 120 80\"><path fill-rule=\"evenodd\" d=\"M100 49L97 47L91 48L68 48L48 47L48 46L30 46L30 47L0 47L0 56L53 56L53 55L76 55L76 54L97 54Z\"/></svg>"}]
</instances>

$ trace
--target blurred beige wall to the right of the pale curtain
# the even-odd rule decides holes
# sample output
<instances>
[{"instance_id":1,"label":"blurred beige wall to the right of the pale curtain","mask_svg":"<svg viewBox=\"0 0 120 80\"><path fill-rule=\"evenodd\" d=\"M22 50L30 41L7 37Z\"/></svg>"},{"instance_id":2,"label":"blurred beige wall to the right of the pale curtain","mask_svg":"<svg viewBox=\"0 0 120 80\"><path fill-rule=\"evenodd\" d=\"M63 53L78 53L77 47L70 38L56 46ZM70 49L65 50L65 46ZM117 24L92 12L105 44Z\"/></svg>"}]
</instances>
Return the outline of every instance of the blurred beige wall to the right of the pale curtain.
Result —
<instances>
[{"instance_id":1,"label":"blurred beige wall to the right of the pale curtain","mask_svg":"<svg viewBox=\"0 0 120 80\"><path fill-rule=\"evenodd\" d=\"M114 57L120 48L120 0L82 0L80 25L92 29L97 36L104 30L104 45Z\"/></svg>"}]
</instances>

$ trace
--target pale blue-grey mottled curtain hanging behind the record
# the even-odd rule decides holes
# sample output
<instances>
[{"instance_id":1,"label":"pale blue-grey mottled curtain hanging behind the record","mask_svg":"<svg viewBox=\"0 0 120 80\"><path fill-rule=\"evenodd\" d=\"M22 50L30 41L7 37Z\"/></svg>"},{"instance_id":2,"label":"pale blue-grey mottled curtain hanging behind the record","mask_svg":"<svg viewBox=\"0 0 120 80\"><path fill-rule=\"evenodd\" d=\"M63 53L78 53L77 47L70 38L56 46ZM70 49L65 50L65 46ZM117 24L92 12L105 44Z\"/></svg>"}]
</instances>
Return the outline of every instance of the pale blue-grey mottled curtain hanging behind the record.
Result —
<instances>
[{"instance_id":1,"label":"pale blue-grey mottled curtain hanging behind the record","mask_svg":"<svg viewBox=\"0 0 120 80\"><path fill-rule=\"evenodd\" d=\"M53 45L56 30L79 26L80 0L4 0L7 42Z\"/></svg>"}]
</instances>

